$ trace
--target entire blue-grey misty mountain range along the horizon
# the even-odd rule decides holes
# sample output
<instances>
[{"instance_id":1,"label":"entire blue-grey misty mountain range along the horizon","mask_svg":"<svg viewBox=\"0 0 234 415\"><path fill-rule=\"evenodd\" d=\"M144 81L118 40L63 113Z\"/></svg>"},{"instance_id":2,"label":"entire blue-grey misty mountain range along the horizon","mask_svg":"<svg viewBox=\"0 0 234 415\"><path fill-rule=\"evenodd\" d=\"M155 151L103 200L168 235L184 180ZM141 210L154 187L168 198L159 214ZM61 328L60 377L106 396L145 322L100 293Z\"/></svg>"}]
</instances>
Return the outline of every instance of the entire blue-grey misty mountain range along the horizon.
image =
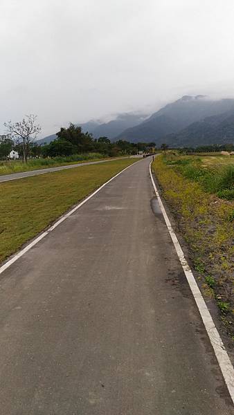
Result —
<instances>
[{"instance_id":1,"label":"entire blue-grey misty mountain range along the horizon","mask_svg":"<svg viewBox=\"0 0 234 415\"><path fill-rule=\"evenodd\" d=\"M123 113L109 122L91 120L79 125L94 138L107 136L112 141L155 142L156 147L163 143L171 147L233 143L234 99L184 95L151 116ZM54 138L52 135L39 141L49 142Z\"/></svg>"}]
</instances>

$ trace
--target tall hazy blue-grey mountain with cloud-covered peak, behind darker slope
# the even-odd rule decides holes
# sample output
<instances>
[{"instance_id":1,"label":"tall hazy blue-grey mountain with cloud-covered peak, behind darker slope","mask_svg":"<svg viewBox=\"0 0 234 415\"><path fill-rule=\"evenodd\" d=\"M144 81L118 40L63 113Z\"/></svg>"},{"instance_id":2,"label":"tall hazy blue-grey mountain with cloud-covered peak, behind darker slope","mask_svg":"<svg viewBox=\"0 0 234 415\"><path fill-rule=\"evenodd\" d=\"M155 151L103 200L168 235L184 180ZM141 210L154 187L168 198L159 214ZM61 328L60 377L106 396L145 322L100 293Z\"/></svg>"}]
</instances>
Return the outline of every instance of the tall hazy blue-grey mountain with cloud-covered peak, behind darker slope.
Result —
<instances>
[{"instance_id":1,"label":"tall hazy blue-grey mountain with cloud-covered peak, behind darker slope","mask_svg":"<svg viewBox=\"0 0 234 415\"><path fill-rule=\"evenodd\" d=\"M116 137L116 140L154 141L156 145L161 145L165 142L163 136L177 133L192 122L228 111L234 111L234 100L210 100L204 95L195 97L184 95L181 99L153 113L138 126L126 129Z\"/></svg>"}]
</instances>

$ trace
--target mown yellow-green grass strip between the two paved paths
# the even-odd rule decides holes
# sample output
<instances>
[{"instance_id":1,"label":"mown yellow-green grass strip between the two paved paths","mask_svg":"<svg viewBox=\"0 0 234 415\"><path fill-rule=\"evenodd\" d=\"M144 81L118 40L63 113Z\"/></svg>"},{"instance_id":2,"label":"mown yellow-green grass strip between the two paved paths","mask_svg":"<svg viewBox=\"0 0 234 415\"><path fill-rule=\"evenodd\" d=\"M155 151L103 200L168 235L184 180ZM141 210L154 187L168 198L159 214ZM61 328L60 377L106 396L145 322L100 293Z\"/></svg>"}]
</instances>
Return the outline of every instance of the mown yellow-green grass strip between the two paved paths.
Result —
<instances>
[{"instance_id":1,"label":"mown yellow-green grass strip between the two paved paths","mask_svg":"<svg viewBox=\"0 0 234 415\"><path fill-rule=\"evenodd\" d=\"M0 261L136 158L22 178L0 185Z\"/></svg>"}]
</instances>

